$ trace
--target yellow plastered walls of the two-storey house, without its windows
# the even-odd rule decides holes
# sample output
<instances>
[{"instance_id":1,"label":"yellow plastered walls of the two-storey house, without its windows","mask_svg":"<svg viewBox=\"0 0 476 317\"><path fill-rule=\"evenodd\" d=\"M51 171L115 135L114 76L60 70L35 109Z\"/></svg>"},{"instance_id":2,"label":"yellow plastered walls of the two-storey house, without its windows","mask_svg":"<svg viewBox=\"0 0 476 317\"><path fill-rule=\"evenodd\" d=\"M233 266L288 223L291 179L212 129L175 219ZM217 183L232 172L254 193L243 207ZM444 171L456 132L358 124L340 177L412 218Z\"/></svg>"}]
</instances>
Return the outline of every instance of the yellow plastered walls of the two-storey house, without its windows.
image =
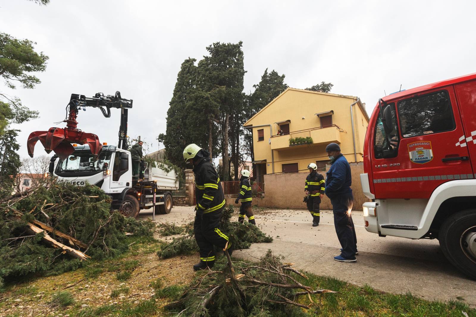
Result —
<instances>
[{"instance_id":1,"label":"yellow plastered walls of the two-storey house, without its windows","mask_svg":"<svg viewBox=\"0 0 476 317\"><path fill-rule=\"evenodd\" d=\"M299 169L306 172L307 165L316 160L327 160L326 146L332 141L340 141L342 154L349 162L355 162L354 145L352 142L352 125L350 116L350 105L356 101L356 97L342 96L335 94L312 92L301 89L286 89L281 95L269 103L258 112L253 118L245 123L245 126L271 125L272 134L276 135L278 125L274 122L290 120L289 131L313 129L320 127L320 120L316 113L334 110L332 123L336 124L341 131L335 127L324 128L322 130L312 130L314 144L299 145L289 147L289 135L270 136L269 126L253 128L253 147L255 160L267 160L267 173L272 173L272 155L274 156L274 172L282 171L282 164L298 163ZM362 113L361 108L356 104L353 107L354 128L357 162L362 161L365 132L368 120ZM302 119L304 117L304 119ZM258 141L258 129L263 129L264 140ZM333 129L333 130L327 130ZM325 131L326 130L326 131ZM337 136L336 136L337 132ZM323 139L317 139L323 138ZM271 144L272 146L271 146Z\"/></svg>"}]
</instances>

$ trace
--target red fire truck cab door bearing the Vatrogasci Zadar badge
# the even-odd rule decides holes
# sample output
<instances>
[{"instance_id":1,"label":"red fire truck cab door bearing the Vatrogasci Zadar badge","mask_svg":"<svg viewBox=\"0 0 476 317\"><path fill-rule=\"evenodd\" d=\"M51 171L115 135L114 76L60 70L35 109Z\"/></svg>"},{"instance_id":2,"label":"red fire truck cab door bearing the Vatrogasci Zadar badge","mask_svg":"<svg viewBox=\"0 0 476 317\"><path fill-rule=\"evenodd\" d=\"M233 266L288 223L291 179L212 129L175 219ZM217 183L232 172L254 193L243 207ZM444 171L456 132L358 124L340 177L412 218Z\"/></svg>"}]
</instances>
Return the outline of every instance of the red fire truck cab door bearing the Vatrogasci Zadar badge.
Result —
<instances>
[{"instance_id":1,"label":"red fire truck cab door bearing the Vatrogasci Zadar badge","mask_svg":"<svg viewBox=\"0 0 476 317\"><path fill-rule=\"evenodd\" d=\"M375 198L427 199L444 182L473 178L468 149L457 144L463 126L453 86L390 100L391 131L380 113L373 127Z\"/></svg>"}]
</instances>

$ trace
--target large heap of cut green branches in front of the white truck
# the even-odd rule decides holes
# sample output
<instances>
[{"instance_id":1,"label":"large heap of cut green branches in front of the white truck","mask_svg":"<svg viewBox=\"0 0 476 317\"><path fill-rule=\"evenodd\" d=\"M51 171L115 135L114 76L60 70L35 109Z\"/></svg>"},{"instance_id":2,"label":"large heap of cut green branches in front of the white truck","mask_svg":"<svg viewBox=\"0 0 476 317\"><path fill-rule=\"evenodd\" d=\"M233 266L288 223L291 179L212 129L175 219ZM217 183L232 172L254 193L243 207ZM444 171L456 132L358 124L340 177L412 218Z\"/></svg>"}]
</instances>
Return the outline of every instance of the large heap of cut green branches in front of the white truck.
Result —
<instances>
[{"instance_id":1,"label":"large heap of cut green branches in front of the white truck","mask_svg":"<svg viewBox=\"0 0 476 317\"><path fill-rule=\"evenodd\" d=\"M153 223L111 213L109 196L96 186L77 187L54 180L43 185L27 196L0 202L0 282L59 274L85 265L84 261L45 245L43 233L28 237L27 222L33 219L51 221L56 230L85 243L89 246L85 253L93 259L112 258L127 251L131 238L126 232L134 233L134 239L152 237ZM15 216L18 212L23 213L21 218ZM68 240L50 235L69 245ZM91 270L86 274L92 277L98 272Z\"/></svg>"}]
</instances>

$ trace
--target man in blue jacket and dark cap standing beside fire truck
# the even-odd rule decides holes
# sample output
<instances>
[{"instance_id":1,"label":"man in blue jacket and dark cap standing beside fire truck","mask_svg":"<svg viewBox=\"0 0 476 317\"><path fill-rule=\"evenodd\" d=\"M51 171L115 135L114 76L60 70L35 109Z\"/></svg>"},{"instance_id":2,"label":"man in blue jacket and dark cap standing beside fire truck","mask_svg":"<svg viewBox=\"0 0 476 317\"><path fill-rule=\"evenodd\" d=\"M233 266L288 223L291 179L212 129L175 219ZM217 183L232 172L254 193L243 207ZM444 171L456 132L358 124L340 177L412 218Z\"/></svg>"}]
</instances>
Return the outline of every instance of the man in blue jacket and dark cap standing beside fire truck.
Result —
<instances>
[{"instance_id":1,"label":"man in blue jacket and dark cap standing beside fire truck","mask_svg":"<svg viewBox=\"0 0 476 317\"><path fill-rule=\"evenodd\" d=\"M352 184L350 165L340 153L337 143L327 145L326 152L331 166L327 171L325 193L332 204L334 226L342 247L340 255L334 259L340 262L356 262L355 256L358 252L356 230L352 221L354 197L350 188Z\"/></svg>"}]
</instances>

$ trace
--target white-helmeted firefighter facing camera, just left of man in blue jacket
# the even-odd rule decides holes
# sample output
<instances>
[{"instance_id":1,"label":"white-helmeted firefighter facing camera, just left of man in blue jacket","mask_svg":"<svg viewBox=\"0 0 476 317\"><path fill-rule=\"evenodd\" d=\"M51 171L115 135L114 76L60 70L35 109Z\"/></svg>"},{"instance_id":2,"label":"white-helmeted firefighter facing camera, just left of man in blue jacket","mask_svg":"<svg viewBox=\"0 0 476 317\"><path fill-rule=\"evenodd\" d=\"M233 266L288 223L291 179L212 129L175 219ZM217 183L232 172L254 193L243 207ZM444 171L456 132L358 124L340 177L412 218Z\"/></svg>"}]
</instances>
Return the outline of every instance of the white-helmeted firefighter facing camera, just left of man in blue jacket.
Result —
<instances>
[{"instance_id":1,"label":"white-helmeted firefighter facing camera, just left of man in blue jacket","mask_svg":"<svg viewBox=\"0 0 476 317\"><path fill-rule=\"evenodd\" d=\"M309 168L309 175L307 175L306 183L304 184L304 191L307 195L307 210L312 216L312 227L319 226L319 220L321 212L319 205L321 203L321 195L324 195L324 176L317 173L317 165L310 163L307 165Z\"/></svg>"}]
</instances>

